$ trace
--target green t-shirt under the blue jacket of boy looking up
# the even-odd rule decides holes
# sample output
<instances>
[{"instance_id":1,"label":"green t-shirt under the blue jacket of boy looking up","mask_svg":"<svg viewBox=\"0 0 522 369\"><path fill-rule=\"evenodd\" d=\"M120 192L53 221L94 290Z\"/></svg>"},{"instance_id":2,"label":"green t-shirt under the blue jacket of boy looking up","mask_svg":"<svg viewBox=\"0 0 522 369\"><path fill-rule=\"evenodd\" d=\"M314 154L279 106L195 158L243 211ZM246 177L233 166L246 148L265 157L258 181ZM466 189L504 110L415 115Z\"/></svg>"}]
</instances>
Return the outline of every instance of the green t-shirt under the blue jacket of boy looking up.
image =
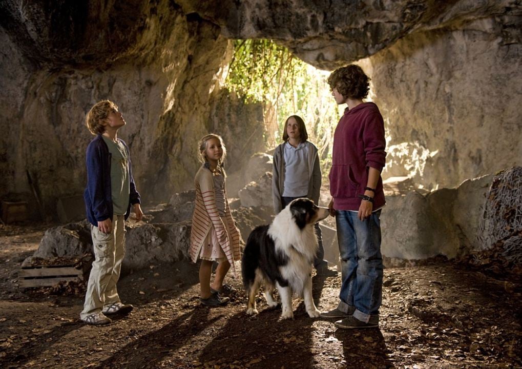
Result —
<instances>
[{"instance_id":1,"label":"green t-shirt under the blue jacket of boy looking up","mask_svg":"<svg viewBox=\"0 0 522 369\"><path fill-rule=\"evenodd\" d=\"M124 215L129 205L129 161L125 146L102 136L111 153L111 196L115 215Z\"/></svg>"}]
</instances>

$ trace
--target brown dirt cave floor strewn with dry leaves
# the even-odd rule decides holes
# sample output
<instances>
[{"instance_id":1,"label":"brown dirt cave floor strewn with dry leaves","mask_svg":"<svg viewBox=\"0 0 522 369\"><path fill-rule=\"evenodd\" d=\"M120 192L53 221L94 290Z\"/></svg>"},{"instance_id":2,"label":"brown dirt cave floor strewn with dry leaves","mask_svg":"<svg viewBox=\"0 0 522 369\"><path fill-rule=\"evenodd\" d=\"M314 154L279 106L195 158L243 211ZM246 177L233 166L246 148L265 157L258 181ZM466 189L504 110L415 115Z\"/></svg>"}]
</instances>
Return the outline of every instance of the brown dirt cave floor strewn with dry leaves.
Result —
<instances>
[{"instance_id":1,"label":"brown dirt cave floor strewn with dry leaves","mask_svg":"<svg viewBox=\"0 0 522 369\"><path fill-rule=\"evenodd\" d=\"M226 307L198 304L197 268L151 265L123 276L135 310L103 327L81 324L83 292L22 290L20 265L49 225L0 226L0 367L25 368L520 368L520 285L434 261L388 268L379 329L339 330L307 316L279 320L259 296L245 314L239 293ZM337 305L340 275L315 276L319 310Z\"/></svg>"}]
</instances>

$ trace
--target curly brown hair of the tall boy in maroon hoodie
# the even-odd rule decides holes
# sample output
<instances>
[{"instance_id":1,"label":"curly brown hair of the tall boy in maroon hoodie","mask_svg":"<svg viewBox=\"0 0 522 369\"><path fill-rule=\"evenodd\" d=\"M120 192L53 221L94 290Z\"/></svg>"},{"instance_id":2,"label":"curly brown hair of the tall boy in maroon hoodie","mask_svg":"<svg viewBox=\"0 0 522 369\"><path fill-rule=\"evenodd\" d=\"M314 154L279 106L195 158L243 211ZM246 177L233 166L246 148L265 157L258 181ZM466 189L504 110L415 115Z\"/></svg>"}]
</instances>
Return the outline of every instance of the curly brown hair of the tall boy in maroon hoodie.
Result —
<instances>
[{"instance_id":1,"label":"curly brown hair of the tall boy in maroon hoodie","mask_svg":"<svg viewBox=\"0 0 522 369\"><path fill-rule=\"evenodd\" d=\"M370 90L370 77L366 76L362 68L356 64L341 67L330 74L328 77L330 89L337 88L337 91L350 99L364 99Z\"/></svg>"}]
</instances>

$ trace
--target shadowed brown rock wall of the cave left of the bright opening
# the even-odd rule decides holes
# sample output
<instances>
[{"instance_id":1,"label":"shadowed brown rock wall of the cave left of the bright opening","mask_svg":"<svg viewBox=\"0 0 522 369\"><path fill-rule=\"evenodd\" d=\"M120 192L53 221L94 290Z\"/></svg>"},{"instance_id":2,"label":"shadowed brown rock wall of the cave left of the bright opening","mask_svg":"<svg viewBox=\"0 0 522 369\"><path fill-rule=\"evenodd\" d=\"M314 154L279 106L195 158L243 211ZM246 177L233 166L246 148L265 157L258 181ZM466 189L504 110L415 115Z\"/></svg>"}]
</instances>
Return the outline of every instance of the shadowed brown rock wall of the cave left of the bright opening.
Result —
<instances>
[{"instance_id":1,"label":"shadowed brown rock wall of the cave left of the bright opening","mask_svg":"<svg viewBox=\"0 0 522 369\"><path fill-rule=\"evenodd\" d=\"M125 116L118 136L131 150L146 203L167 202L193 186L201 136L213 131L231 142L241 125L228 128L229 123L259 124L260 106L223 101L219 80L231 45L218 26L185 15L169 1L133 4L134 9L98 4L83 9L87 16L70 14L64 4L61 11L20 4L11 9L12 19L2 19L0 198L28 200L38 213L27 172L46 218L55 215L58 197L81 194L85 149L93 137L85 115L102 99L116 102ZM53 20L67 9L73 41ZM90 19L97 21L92 25ZM262 149L262 137L257 133L256 145L230 150L230 161L239 165L240 158Z\"/></svg>"}]
</instances>

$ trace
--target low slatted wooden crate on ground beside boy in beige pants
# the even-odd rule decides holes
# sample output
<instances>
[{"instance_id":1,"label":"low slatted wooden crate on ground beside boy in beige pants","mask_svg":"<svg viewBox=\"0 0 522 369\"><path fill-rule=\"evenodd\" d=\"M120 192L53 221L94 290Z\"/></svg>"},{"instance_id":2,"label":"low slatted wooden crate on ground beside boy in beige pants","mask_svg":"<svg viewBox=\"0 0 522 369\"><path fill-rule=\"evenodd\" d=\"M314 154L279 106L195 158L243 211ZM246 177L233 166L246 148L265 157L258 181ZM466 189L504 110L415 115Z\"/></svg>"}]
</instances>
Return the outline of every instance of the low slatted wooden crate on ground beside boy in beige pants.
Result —
<instances>
[{"instance_id":1,"label":"low slatted wooden crate on ground beside boy in beige pants","mask_svg":"<svg viewBox=\"0 0 522 369\"><path fill-rule=\"evenodd\" d=\"M73 266L42 266L22 268L18 282L21 288L50 287L62 281L79 282L83 279L83 271Z\"/></svg>"}]
</instances>

